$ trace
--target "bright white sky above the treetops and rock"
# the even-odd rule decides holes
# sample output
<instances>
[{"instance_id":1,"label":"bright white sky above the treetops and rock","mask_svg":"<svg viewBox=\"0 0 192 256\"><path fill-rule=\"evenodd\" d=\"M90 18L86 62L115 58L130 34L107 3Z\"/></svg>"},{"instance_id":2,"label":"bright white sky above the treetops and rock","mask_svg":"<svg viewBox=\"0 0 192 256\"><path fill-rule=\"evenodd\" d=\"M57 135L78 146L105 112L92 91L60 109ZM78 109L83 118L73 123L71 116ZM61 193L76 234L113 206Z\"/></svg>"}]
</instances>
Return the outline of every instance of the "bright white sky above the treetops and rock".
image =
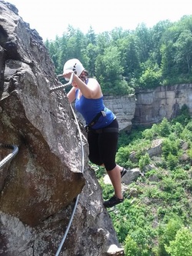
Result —
<instances>
[{"instance_id":1,"label":"bright white sky above the treetops and rock","mask_svg":"<svg viewBox=\"0 0 192 256\"><path fill-rule=\"evenodd\" d=\"M177 22L192 15L191 0L5 0L18 8L18 15L43 40L55 40L68 25L86 34L90 26L96 34L114 28L134 30L144 23L148 28L166 19Z\"/></svg>"}]
</instances>

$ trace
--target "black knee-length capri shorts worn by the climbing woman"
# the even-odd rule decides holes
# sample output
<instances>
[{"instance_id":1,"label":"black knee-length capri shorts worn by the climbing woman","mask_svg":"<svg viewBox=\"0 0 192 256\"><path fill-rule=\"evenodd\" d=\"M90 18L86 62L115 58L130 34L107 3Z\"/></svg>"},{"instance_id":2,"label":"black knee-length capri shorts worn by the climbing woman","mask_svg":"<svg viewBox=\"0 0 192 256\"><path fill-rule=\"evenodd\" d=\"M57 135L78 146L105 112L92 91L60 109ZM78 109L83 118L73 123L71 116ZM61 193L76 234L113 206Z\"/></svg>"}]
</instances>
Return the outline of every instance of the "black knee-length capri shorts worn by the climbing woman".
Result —
<instances>
[{"instance_id":1,"label":"black knee-length capri shorts worn by the climbing woman","mask_svg":"<svg viewBox=\"0 0 192 256\"><path fill-rule=\"evenodd\" d=\"M108 129L117 128L117 129ZM95 165L104 165L107 171L115 168L115 155L118 147L118 121L114 119L104 132L88 131L89 160ZM100 130L98 130L100 131Z\"/></svg>"}]
</instances>

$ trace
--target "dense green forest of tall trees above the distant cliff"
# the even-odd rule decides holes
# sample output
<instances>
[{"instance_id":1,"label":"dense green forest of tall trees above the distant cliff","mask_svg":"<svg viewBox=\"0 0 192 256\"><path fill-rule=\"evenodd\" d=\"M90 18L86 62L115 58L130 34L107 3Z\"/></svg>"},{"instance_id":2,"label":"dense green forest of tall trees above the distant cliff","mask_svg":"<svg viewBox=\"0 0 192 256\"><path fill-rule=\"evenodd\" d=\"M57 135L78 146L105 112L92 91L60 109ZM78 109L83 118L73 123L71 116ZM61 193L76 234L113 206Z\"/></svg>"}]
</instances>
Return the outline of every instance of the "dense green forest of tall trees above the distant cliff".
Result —
<instances>
[{"instance_id":1,"label":"dense green forest of tall trees above the distant cliff","mask_svg":"<svg viewBox=\"0 0 192 256\"><path fill-rule=\"evenodd\" d=\"M78 58L98 79L104 95L192 81L192 15L152 28L141 24L135 30L114 28L98 35L91 27L84 35L69 25L61 37L45 45L57 75L69 58Z\"/></svg>"}]
</instances>

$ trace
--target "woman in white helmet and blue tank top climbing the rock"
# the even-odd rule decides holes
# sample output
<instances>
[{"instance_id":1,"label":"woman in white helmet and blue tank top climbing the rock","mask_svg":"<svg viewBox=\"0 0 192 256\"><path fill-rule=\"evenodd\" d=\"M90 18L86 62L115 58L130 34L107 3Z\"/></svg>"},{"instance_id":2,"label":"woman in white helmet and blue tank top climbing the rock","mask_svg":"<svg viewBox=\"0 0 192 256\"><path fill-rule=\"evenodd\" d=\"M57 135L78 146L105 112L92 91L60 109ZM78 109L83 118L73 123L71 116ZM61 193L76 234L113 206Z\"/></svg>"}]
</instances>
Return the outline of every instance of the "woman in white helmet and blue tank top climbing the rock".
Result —
<instances>
[{"instance_id":1,"label":"woman in white helmet and blue tank top climbing the rock","mask_svg":"<svg viewBox=\"0 0 192 256\"><path fill-rule=\"evenodd\" d=\"M121 178L127 170L115 163L118 145L118 121L114 113L104 106L101 86L95 78L88 78L86 71L77 58L68 60L63 76L68 81L74 73L72 88L68 92L70 102L75 100L75 108L86 121L88 131L89 159L95 165L104 166L114 187L114 196L104 201L111 208L124 201L121 192Z\"/></svg>"}]
</instances>

